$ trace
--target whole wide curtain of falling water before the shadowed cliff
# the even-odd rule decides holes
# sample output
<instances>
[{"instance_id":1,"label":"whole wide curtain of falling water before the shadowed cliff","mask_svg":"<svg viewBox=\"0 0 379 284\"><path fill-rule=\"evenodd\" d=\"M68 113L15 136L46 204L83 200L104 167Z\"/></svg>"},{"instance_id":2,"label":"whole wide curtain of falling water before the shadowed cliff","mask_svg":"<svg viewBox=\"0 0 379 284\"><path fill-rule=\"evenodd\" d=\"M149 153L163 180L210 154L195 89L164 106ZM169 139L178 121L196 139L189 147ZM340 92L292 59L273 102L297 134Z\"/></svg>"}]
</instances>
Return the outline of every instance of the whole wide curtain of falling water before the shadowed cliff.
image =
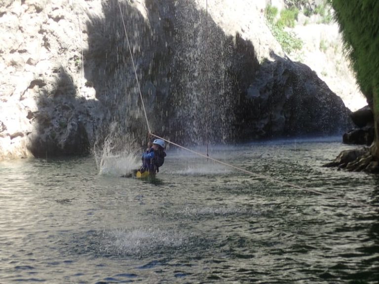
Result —
<instances>
[{"instance_id":1,"label":"whole wide curtain of falling water before the shadowed cliff","mask_svg":"<svg viewBox=\"0 0 379 284\"><path fill-rule=\"evenodd\" d=\"M98 66L107 75L94 72L93 80L107 86L97 94L110 109L110 120L140 141L148 132L128 36L152 132L185 145L233 141L240 123L234 111L240 100L237 83L245 76L239 61L249 61L237 56L235 37L191 0L143 2L104 6L109 14L102 27L109 40L99 51L106 57Z\"/></svg>"}]
</instances>

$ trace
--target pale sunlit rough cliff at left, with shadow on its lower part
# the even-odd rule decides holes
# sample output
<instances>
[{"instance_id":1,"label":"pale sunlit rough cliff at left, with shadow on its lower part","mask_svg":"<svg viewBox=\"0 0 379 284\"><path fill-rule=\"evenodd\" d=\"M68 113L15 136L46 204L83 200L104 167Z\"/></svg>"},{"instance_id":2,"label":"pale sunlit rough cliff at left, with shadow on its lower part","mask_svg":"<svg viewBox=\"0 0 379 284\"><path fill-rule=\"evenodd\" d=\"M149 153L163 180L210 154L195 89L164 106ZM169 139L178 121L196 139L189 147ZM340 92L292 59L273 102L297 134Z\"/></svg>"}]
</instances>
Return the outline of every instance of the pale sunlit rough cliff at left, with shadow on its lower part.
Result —
<instances>
[{"instance_id":1,"label":"pale sunlit rough cliff at left, with shadow on its lower part","mask_svg":"<svg viewBox=\"0 0 379 284\"><path fill-rule=\"evenodd\" d=\"M0 8L0 158L88 150L105 109L81 61L86 1L3 0Z\"/></svg>"}]
</instances>

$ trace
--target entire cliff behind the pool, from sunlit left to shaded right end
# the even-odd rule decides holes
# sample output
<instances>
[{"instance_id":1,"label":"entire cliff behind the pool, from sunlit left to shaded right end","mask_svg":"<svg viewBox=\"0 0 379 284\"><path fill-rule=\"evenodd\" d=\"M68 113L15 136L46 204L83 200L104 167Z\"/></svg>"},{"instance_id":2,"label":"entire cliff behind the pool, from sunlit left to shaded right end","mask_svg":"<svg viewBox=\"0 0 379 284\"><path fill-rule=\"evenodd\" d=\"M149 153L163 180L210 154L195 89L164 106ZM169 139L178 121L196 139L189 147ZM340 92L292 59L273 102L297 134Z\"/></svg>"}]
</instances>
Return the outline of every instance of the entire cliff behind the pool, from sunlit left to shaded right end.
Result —
<instances>
[{"instance_id":1,"label":"entire cliff behind the pool, from sunlit left to shaded right end","mask_svg":"<svg viewBox=\"0 0 379 284\"><path fill-rule=\"evenodd\" d=\"M116 0L1 3L0 159L146 137ZM201 143L346 129L346 108L309 68L260 65L258 43L226 35L195 1L120 6L154 133Z\"/></svg>"}]
</instances>

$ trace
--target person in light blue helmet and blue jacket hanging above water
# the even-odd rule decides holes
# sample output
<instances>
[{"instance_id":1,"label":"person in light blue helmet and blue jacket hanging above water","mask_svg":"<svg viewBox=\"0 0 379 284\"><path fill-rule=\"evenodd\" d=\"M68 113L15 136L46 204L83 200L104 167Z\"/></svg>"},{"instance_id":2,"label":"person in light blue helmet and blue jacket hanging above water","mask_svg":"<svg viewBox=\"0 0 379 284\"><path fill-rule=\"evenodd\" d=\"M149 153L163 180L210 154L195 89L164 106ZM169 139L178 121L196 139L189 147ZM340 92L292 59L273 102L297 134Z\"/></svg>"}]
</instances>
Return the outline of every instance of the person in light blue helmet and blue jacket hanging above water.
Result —
<instances>
[{"instance_id":1,"label":"person in light blue helmet and blue jacket hanging above water","mask_svg":"<svg viewBox=\"0 0 379 284\"><path fill-rule=\"evenodd\" d=\"M140 169L141 173L149 171L150 174L155 174L159 172L159 167L164 163L164 157L166 157L165 143L161 139L155 139L151 143L148 143L147 150L142 154L142 167Z\"/></svg>"}]
</instances>

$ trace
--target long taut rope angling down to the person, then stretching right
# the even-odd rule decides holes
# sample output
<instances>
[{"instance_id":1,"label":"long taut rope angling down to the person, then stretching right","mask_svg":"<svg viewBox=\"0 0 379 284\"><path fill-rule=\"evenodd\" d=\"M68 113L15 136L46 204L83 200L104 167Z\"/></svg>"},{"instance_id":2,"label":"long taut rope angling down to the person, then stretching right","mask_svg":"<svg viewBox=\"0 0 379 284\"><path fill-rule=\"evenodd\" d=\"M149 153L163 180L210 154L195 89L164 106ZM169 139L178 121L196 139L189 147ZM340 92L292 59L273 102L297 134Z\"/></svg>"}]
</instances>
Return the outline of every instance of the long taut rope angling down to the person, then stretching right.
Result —
<instances>
[{"instance_id":1,"label":"long taut rope angling down to the person, then stretching right","mask_svg":"<svg viewBox=\"0 0 379 284\"><path fill-rule=\"evenodd\" d=\"M307 192L311 192L311 193L315 193L315 194L318 194L318 195L322 195L322 196L325 196L325 197L328 197L328 198L331 198L331 199L336 199L336 200L340 200L340 201L343 201L343 202L346 202L346 203L350 203L350 204L353 204L353 205L357 205L357 206L363 206L363 207L367 207L367 208L372 208L372 209L376 209L376 207L372 206L372 205L369 205L369 204L365 204L365 203L361 203L361 202L357 202L357 201L354 201L354 200L349 200L349 199L345 199L345 198L342 198L342 197L338 197L338 196L333 196L333 195L330 195L330 194L327 194L327 193L324 193L324 192L321 192L321 191L318 191L318 190L314 190L314 189L308 189L308 188L305 188L305 187L302 187L302 186L299 186L299 185L296 185L296 184L293 184L293 183L289 183L289 182L286 182L286 181L282 181L282 180L278 180L278 179L275 179L275 178L271 178L271 177L267 177L267 176L264 176L264 175L261 175L261 174L257 174L257 173L253 173L251 171L248 171L248 170L245 170L245 169L242 169L242 168L239 168L239 167L236 167L236 166L233 166L231 164L228 164L228 163L225 163L223 161L220 161L220 160L217 160L215 158L212 158L208 155L208 147L207 147L207 154L201 154L199 152L196 152L196 151L193 151L189 148L186 148L182 145L179 145L177 143L174 143L172 141L169 141L167 139L164 139L160 136L157 136L155 134L153 134L150 130L150 126L149 126L149 120L148 120L148 115L146 113L146 109L145 109L145 104L144 104L144 100L142 98L142 93L141 93L141 88L140 88L140 84L139 84L139 81L138 81L138 77L137 77L137 71L136 71L136 67L134 65L134 60L133 60L133 54L132 54L132 51L131 51L131 48L130 48L130 44L129 44L129 38L128 38L128 34L126 32L126 27L125 27L125 22L124 22L124 19L123 19L123 15L122 15L122 10L121 10L121 6L120 6L120 3L119 1L117 1L118 3L118 7L120 8L120 13L121 13L121 19L122 19L122 23L123 23L123 26L124 26L124 30L125 30L125 37L126 37L126 41L128 43L128 47L129 47L129 52L130 52L130 57L131 57L131 60L132 60L132 63L133 63L133 69L134 69L134 74L136 76L136 80L137 80L137 85L138 85L138 90L139 90L139 93L140 93L140 97L141 97L141 101L142 101L142 107L143 107L143 110L144 110L144 113L145 113L145 118L146 118L146 123L148 125L148 129L149 129L149 135L153 136L153 137L156 137L158 139L161 139L169 144L172 144L174 146L177 146L181 149L184 149L186 151L189 151L193 154L196 154L198 156L201 156L201 157L204 157L204 158L207 158L207 159L210 159L216 163L219 163L221 165L224 165L224 166L227 166L227 167L230 167L230 168L233 168L235 170L238 170L238 171L241 171L241 172L244 172L246 174L250 174L250 175L253 175L257 178L263 178L263 179L267 179L267 180L270 180L274 183L279 183L279 184L282 184L282 185L286 185L286 186L290 186L290 187L293 187L293 188L297 188L297 189L300 189L300 190L303 190L303 191L307 191Z\"/></svg>"}]
</instances>

